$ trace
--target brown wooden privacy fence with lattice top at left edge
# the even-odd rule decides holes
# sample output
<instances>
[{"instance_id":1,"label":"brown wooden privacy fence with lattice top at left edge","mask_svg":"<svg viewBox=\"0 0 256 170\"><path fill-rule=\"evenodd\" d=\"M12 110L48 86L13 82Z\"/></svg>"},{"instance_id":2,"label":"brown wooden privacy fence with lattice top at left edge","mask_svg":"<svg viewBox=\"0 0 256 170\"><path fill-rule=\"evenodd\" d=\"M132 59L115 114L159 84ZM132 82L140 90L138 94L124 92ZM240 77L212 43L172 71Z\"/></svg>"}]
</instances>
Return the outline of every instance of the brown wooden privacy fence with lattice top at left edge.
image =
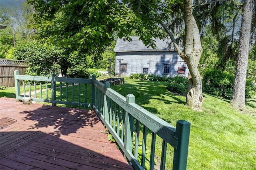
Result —
<instances>
[{"instance_id":1,"label":"brown wooden privacy fence with lattice top at left edge","mask_svg":"<svg viewBox=\"0 0 256 170\"><path fill-rule=\"evenodd\" d=\"M28 68L28 61L0 59L0 87L14 86L14 70L19 70L21 74L25 74Z\"/></svg>"}]
</instances>

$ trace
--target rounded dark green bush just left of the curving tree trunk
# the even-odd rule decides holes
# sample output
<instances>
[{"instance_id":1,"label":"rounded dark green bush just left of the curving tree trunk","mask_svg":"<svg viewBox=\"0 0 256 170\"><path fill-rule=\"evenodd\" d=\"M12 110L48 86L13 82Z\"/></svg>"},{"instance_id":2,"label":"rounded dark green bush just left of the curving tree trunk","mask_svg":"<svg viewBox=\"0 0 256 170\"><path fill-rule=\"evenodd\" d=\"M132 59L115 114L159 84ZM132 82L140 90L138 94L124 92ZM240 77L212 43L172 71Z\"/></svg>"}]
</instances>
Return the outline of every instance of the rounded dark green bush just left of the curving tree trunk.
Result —
<instances>
[{"instance_id":1,"label":"rounded dark green bush just left of the curving tree trunk","mask_svg":"<svg viewBox=\"0 0 256 170\"><path fill-rule=\"evenodd\" d=\"M169 78L167 89L171 92L186 94L188 86L188 78L183 76L175 76L173 78Z\"/></svg>"}]
</instances>

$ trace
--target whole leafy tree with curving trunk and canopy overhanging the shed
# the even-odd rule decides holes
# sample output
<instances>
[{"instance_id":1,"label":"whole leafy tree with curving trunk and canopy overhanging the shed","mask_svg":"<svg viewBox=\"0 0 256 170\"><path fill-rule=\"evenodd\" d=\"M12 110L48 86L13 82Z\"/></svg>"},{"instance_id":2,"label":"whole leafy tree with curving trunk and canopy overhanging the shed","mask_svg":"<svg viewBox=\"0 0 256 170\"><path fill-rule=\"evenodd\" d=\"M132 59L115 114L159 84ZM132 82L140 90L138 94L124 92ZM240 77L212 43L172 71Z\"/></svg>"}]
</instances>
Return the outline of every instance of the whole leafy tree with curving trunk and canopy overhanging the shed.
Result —
<instances>
[{"instance_id":1,"label":"whole leafy tree with curving trunk and canopy overhanging the shed","mask_svg":"<svg viewBox=\"0 0 256 170\"><path fill-rule=\"evenodd\" d=\"M190 70L187 104L194 109L202 109L202 81L197 68L202 47L200 32L192 14L191 0L29 2L36 10L35 27L42 41L60 45L69 52L77 50L79 54L93 54L96 61L104 51L104 46L114 40L115 32L118 33L118 37L125 37L125 40L130 41L129 35L135 30L140 39L152 47L155 47L152 37L164 38L167 33ZM170 16L174 14L174 6L184 14L184 51L181 51L166 26ZM164 31L159 25L162 25Z\"/></svg>"}]
</instances>

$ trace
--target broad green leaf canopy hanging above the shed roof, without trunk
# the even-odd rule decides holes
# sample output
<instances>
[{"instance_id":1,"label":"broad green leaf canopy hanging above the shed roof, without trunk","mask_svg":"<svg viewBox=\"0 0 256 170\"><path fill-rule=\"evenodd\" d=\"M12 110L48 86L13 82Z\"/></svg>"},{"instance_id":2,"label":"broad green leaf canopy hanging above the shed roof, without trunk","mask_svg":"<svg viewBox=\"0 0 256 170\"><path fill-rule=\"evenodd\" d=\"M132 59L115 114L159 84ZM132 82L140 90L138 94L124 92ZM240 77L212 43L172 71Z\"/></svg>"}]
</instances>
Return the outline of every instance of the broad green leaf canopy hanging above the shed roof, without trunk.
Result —
<instances>
[{"instance_id":1,"label":"broad green leaf canopy hanging above the shed roof, without trunk","mask_svg":"<svg viewBox=\"0 0 256 170\"><path fill-rule=\"evenodd\" d=\"M166 35L158 25L167 20L174 3L169 0L144 1L138 9L139 2L130 0L28 2L36 10L34 24L30 27L36 28L39 41L61 46L68 53L78 51L92 55L93 61L101 59L104 49L116 40L116 35L130 41L129 35L136 33L146 45L155 47L152 37Z\"/></svg>"}]
</instances>

